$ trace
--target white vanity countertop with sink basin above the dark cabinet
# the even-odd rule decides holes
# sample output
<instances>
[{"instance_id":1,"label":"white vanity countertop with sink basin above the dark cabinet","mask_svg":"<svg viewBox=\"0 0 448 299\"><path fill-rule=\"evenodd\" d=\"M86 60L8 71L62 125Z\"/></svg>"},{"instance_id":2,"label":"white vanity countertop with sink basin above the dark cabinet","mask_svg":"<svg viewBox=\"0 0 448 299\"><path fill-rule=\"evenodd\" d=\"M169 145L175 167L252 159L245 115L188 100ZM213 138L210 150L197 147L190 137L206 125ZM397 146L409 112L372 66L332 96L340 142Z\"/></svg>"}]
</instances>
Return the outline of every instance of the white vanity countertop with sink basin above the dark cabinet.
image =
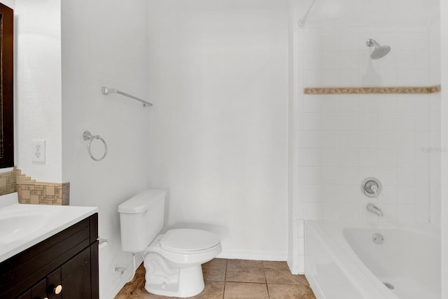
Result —
<instances>
[{"instance_id":1,"label":"white vanity countertop with sink basin above the dark cabinet","mask_svg":"<svg viewBox=\"0 0 448 299\"><path fill-rule=\"evenodd\" d=\"M9 204L0 208L0 262L98 212L96 207Z\"/></svg>"}]
</instances>

